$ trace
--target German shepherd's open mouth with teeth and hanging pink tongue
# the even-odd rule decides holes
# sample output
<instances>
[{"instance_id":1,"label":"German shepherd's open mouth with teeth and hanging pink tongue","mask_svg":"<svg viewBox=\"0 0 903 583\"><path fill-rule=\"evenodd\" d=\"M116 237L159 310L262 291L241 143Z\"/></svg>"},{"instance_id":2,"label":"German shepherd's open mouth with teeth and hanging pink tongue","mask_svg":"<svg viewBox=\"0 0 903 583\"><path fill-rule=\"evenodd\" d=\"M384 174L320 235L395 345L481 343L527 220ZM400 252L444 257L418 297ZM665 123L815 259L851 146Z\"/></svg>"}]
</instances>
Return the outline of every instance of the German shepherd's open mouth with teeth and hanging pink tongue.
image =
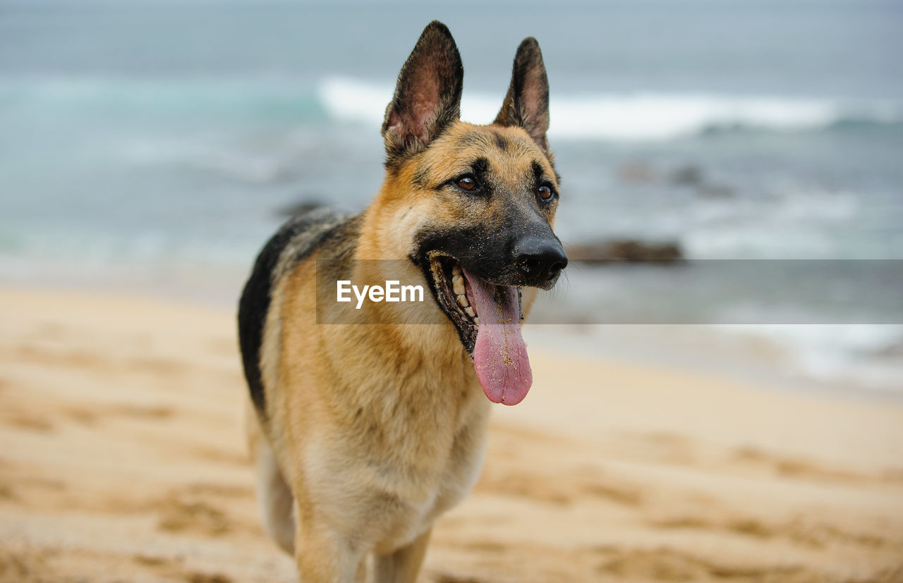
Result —
<instances>
[{"instance_id":1,"label":"German shepherd's open mouth with teeth and hanging pink tongue","mask_svg":"<svg viewBox=\"0 0 903 583\"><path fill-rule=\"evenodd\" d=\"M520 403L533 374L520 333L517 287L481 280L450 255L429 259L436 300L473 357L483 393L493 403Z\"/></svg>"}]
</instances>

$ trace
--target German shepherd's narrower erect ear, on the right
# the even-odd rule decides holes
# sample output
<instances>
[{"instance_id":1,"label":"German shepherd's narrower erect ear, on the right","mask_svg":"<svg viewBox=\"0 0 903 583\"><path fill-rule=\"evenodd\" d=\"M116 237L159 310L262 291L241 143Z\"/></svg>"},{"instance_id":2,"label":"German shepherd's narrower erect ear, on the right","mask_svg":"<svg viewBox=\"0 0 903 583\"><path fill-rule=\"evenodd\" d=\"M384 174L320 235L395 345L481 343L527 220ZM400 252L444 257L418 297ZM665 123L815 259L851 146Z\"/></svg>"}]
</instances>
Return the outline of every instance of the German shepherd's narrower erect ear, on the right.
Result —
<instances>
[{"instance_id":1,"label":"German shepherd's narrower erect ear, on the right","mask_svg":"<svg viewBox=\"0 0 903 583\"><path fill-rule=\"evenodd\" d=\"M533 141L548 153L545 132L549 129L549 79L545 76L543 53L532 36L517 47L511 86L495 123L523 127Z\"/></svg>"}]
</instances>

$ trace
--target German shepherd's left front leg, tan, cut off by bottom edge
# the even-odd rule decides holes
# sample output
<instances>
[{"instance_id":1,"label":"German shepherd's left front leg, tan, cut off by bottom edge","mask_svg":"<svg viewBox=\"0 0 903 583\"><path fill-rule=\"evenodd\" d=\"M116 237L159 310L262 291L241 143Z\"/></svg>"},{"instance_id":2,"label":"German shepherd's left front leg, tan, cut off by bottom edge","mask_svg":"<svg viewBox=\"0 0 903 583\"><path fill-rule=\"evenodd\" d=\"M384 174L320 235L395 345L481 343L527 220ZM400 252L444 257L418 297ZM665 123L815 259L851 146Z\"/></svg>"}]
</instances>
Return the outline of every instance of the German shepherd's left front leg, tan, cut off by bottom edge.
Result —
<instances>
[{"instance_id":1,"label":"German shepherd's left front leg, tan, cut off by bottom edge","mask_svg":"<svg viewBox=\"0 0 903 583\"><path fill-rule=\"evenodd\" d=\"M365 553L358 545L312 520L295 521L294 559L301 583L361 583L367 574Z\"/></svg>"}]
</instances>

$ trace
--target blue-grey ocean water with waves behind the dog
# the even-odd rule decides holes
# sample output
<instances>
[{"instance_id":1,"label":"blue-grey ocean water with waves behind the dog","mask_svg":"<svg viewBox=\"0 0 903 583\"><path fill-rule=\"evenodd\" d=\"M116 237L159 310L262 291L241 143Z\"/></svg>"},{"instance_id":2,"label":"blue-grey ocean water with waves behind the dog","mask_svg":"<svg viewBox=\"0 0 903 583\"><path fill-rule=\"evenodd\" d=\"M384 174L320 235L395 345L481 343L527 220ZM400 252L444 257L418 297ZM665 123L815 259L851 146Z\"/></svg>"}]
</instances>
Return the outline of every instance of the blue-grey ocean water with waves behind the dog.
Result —
<instances>
[{"instance_id":1,"label":"blue-grey ocean water with waves behind the dog","mask_svg":"<svg viewBox=\"0 0 903 583\"><path fill-rule=\"evenodd\" d=\"M575 265L567 319L689 319L767 338L799 375L903 389L896 2L0 0L0 278L234 301L281 209L372 198L383 111L434 18L474 123L539 40L566 244L669 241L707 266ZM712 267L748 260L809 263L749 298ZM890 276L864 294L833 260Z\"/></svg>"}]
</instances>

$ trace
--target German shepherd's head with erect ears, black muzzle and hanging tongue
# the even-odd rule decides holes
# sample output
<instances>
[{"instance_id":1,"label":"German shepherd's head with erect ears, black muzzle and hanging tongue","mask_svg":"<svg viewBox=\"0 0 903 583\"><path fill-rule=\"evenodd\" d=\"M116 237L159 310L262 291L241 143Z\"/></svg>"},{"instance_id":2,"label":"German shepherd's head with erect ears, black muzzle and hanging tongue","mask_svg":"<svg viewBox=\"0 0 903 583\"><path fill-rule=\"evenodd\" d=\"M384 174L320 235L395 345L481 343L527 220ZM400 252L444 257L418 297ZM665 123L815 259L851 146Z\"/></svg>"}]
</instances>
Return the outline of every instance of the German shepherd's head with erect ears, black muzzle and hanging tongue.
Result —
<instances>
[{"instance_id":1,"label":"German shepherd's head with erect ears, black muzzle and hanging tongue","mask_svg":"<svg viewBox=\"0 0 903 583\"><path fill-rule=\"evenodd\" d=\"M473 357L484 391L513 404L532 380L519 288L548 290L567 264L552 230L558 176L545 137L548 81L539 45L527 38L495 121L470 125L459 119L462 79L452 34L430 23L386 108L386 180L419 211L408 256Z\"/></svg>"}]
</instances>

